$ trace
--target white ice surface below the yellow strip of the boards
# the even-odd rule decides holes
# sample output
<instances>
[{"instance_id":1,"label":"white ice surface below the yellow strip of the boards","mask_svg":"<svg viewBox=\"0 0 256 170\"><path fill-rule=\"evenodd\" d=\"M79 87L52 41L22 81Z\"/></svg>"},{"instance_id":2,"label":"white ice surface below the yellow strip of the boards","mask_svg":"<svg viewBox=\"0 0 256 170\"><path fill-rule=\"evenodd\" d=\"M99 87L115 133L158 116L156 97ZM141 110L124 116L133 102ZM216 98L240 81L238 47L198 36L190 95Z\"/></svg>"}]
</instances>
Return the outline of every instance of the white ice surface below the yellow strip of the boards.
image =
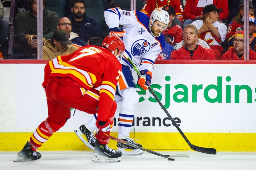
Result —
<instances>
[{"instance_id":1,"label":"white ice surface below the yellow strip of the boards","mask_svg":"<svg viewBox=\"0 0 256 170\"><path fill-rule=\"evenodd\" d=\"M147 152L139 156L122 156L117 163L92 162L92 151L42 151L42 158L31 162L13 162L17 152L0 152L0 169L35 170L255 170L256 152L218 152L208 155L194 151L167 152L169 154L189 154L189 158L175 158L167 161Z\"/></svg>"}]
</instances>

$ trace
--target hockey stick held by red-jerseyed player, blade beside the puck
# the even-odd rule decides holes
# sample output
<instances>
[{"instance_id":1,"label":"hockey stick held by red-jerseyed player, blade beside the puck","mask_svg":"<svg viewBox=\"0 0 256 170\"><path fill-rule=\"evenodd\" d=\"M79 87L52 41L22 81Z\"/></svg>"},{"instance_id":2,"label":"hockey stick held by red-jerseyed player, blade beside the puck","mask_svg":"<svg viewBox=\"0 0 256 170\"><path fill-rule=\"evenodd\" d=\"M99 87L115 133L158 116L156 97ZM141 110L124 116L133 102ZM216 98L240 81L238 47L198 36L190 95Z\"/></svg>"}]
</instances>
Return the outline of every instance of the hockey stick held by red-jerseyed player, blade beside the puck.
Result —
<instances>
[{"instance_id":1,"label":"hockey stick held by red-jerseyed player, blade beside the puck","mask_svg":"<svg viewBox=\"0 0 256 170\"><path fill-rule=\"evenodd\" d=\"M131 146L131 147L134 147L136 149L140 149L142 151L145 151L145 152L148 152L148 153L152 153L154 155L157 155L157 156L161 156L163 158L174 158L174 157L189 157L188 154L174 154L174 155L163 155L161 153L158 153L158 152L155 152L155 151L151 151L149 149L146 149L146 148L143 148L143 147L140 147L140 146L137 146L137 145L132 145L124 140L121 140L121 139L118 139L118 138L115 138L113 136L109 136L110 139L113 139L117 142L120 142L120 143L125 143L125 145L128 145L128 146Z\"/></svg>"}]
</instances>

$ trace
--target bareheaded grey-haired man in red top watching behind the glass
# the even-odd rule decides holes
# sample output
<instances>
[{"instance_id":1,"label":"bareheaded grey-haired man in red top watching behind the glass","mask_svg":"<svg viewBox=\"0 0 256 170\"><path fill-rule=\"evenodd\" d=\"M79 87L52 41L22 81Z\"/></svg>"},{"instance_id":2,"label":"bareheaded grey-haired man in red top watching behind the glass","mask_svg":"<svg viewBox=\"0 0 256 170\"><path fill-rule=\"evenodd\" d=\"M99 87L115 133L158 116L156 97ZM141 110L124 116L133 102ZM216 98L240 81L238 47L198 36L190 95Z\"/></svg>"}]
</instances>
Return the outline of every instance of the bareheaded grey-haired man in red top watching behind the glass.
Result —
<instances>
[{"instance_id":1,"label":"bareheaded grey-haired man in red top watching behind the glass","mask_svg":"<svg viewBox=\"0 0 256 170\"><path fill-rule=\"evenodd\" d=\"M198 34L195 25L186 25L183 37L185 45L172 52L173 60L215 60L212 49L196 44Z\"/></svg>"}]
</instances>

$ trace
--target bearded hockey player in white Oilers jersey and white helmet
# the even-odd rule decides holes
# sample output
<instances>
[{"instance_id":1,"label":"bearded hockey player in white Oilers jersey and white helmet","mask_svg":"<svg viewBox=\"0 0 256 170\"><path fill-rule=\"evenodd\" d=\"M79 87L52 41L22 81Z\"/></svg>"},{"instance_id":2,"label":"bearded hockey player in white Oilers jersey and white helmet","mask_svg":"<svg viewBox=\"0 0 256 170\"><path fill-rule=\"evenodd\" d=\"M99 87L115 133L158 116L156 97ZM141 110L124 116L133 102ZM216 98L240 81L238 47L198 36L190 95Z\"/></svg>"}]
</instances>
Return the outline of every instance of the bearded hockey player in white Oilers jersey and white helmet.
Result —
<instances>
[{"instance_id":1,"label":"bearded hockey player in white Oilers jersey and white helmet","mask_svg":"<svg viewBox=\"0 0 256 170\"><path fill-rule=\"evenodd\" d=\"M139 77L137 83L141 88L147 90L151 83L155 60L165 46L162 32L169 23L169 15L159 8L152 12L150 18L140 11L124 11L112 8L106 10L104 16L110 28L110 33L123 39L125 45L124 57L120 61L122 73L117 83L115 95L116 114L119 114L118 138L133 145L142 146L129 138L139 95L135 90L132 66L126 60L126 57L130 57L133 63L138 66L143 76ZM118 25L124 27L118 29ZM90 149L94 148L96 141L93 135L93 131L96 129L96 118L97 114L89 122L75 130L76 135ZM83 134L86 138L83 138ZM117 142L117 148L126 155L142 154L141 150L119 142ZM126 152L125 149L131 149L132 152Z\"/></svg>"}]
</instances>

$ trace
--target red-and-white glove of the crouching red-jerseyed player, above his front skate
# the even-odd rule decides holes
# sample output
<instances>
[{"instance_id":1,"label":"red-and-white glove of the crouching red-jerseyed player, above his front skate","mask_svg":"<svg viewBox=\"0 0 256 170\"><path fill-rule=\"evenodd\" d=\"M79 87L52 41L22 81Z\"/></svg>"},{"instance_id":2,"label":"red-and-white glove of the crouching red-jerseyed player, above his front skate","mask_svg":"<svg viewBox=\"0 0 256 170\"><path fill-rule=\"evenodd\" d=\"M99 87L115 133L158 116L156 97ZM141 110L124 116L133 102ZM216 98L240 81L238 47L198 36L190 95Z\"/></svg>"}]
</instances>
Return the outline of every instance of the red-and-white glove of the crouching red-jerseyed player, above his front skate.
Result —
<instances>
[{"instance_id":1,"label":"red-and-white glove of the crouching red-jerseyed player, above his front skate","mask_svg":"<svg viewBox=\"0 0 256 170\"><path fill-rule=\"evenodd\" d=\"M97 126L97 133L95 137L98 139L98 142L102 145L109 143L109 136L110 136L110 122L104 124L103 126L99 125L99 121L96 122Z\"/></svg>"}]
</instances>

